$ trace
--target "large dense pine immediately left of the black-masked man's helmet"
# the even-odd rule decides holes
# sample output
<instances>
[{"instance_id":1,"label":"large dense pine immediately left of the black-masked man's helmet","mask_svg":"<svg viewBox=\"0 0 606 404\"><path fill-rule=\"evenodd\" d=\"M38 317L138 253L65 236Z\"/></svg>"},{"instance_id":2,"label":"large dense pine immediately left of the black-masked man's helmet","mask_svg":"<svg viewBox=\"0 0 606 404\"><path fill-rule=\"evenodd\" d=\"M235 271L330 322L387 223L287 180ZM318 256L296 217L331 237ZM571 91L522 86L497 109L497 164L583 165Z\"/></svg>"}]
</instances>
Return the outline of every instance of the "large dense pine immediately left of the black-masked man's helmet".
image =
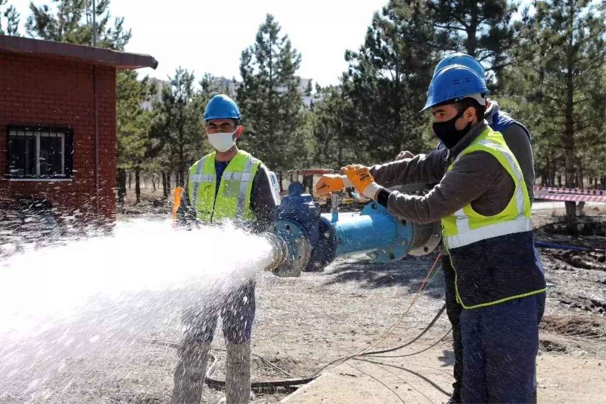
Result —
<instances>
[{"instance_id":1,"label":"large dense pine immediately left of the black-masked man's helmet","mask_svg":"<svg viewBox=\"0 0 606 404\"><path fill-rule=\"evenodd\" d=\"M419 113L435 66L436 41L422 0L391 0L375 13L364 45L345 52L342 87L356 106L357 144L371 161L392 160L405 147L421 152L427 116Z\"/></svg>"}]
</instances>

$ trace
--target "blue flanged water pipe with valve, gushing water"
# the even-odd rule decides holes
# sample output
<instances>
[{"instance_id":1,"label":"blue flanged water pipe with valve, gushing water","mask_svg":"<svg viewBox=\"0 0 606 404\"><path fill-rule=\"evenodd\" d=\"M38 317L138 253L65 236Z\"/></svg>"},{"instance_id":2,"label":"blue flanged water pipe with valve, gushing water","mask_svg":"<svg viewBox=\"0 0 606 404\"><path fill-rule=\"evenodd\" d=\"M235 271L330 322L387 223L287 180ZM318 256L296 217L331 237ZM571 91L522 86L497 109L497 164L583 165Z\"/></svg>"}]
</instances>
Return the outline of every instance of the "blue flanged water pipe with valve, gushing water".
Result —
<instances>
[{"instance_id":1,"label":"blue flanged water pipe with valve, gushing water","mask_svg":"<svg viewBox=\"0 0 606 404\"><path fill-rule=\"evenodd\" d=\"M359 215L340 217L338 198L332 197L330 218L323 217L318 201L304 194L303 185L290 183L267 235L274 249L273 274L292 277L322 271L336 258L354 254L388 263L409 254L430 254L439 244L439 223L398 218L376 202L368 203Z\"/></svg>"}]
</instances>

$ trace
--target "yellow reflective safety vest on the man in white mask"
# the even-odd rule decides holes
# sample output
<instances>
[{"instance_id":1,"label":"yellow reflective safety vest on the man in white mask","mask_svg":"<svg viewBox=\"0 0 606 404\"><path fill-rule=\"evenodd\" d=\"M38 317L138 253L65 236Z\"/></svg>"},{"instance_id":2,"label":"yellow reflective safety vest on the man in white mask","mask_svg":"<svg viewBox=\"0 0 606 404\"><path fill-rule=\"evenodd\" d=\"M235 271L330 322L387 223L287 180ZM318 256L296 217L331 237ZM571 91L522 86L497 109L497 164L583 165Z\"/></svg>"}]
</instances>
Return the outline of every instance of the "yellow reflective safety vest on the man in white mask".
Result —
<instances>
[{"instance_id":1,"label":"yellow reflective safety vest on the man in white mask","mask_svg":"<svg viewBox=\"0 0 606 404\"><path fill-rule=\"evenodd\" d=\"M215 195L215 155L212 152L196 161L189 170L187 193L190 205L196 207L196 217L209 222L253 220L255 212L250 209L250 195L261 161L238 150L225 168Z\"/></svg>"}]
</instances>

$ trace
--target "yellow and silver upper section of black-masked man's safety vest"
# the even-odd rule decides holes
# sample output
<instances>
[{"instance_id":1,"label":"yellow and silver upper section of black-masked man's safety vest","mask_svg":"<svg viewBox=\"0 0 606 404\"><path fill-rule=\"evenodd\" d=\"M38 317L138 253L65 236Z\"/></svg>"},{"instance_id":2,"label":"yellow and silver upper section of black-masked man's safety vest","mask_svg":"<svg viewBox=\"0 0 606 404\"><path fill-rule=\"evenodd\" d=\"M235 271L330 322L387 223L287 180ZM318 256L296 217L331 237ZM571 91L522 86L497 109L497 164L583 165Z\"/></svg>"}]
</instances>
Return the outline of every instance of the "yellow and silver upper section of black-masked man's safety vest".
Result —
<instances>
[{"instance_id":1,"label":"yellow and silver upper section of black-masked man's safety vest","mask_svg":"<svg viewBox=\"0 0 606 404\"><path fill-rule=\"evenodd\" d=\"M470 146L459 153L448 167L448 171L459 158L478 150L491 153L501 163L514 180L515 190L507 207L497 215L490 217L480 215L473 210L471 204L467 204L453 215L443 218L443 236L449 249L467 246L487 238L527 232L533 229L530 218L530 198L528 198L522 170L518 161L513 157L513 153L508 149L501 133L494 132L488 127Z\"/></svg>"}]
</instances>

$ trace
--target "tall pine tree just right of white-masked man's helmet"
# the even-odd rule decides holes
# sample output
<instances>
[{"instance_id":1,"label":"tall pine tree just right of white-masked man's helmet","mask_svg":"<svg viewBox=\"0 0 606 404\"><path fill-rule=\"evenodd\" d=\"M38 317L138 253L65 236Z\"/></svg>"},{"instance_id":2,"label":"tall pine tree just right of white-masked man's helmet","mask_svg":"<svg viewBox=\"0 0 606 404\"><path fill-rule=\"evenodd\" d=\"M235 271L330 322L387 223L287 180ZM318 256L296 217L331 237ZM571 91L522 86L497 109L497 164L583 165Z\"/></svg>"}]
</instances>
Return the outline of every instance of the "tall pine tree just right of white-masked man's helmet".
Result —
<instances>
[{"instance_id":1,"label":"tall pine tree just right of white-masked man's helmet","mask_svg":"<svg viewBox=\"0 0 606 404\"><path fill-rule=\"evenodd\" d=\"M272 170L296 168L302 95L295 75L301 54L272 15L259 26L255 44L242 52L236 99L244 124L242 147Z\"/></svg>"}]
</instances>

